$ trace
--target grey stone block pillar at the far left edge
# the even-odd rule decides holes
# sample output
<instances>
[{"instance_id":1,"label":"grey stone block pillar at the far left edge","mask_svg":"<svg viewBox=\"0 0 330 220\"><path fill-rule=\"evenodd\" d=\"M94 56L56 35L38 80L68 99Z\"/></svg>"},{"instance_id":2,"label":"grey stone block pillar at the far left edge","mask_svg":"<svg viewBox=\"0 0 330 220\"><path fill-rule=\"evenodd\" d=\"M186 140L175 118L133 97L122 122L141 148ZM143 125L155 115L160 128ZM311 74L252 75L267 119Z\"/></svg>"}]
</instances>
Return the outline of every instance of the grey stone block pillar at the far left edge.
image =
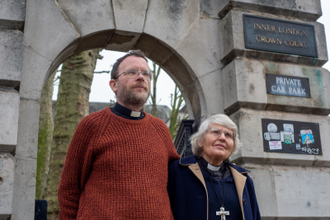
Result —
<instances>
[{"instance_id":1,"label":"grey stone block pillar at the far left edge","mask_svg":"<svg viewBox=\"0 0 330 220\"><path fill-rule=\"evenodd\" d=\"M0 219L12 215L25 0L0 3Z\"/></svg>"}]
</instances>

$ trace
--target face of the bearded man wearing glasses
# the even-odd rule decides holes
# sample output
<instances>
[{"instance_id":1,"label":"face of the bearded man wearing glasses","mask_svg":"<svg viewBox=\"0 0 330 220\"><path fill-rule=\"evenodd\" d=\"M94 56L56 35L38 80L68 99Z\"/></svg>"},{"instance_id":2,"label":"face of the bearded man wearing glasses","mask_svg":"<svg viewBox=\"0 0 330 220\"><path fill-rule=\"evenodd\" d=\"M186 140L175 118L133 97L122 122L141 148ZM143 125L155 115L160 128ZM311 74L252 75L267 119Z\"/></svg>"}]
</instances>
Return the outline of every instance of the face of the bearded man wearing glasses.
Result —
<instances>
[{"instance_id":1,"label":"face of the bearded man wearing glasses","mask_svg":"<svg viewBox=\"0 0 330 220\"><path fill-rule=\"evenodd\" d=\"M129 69L149 70L149 66L142 57L129 56L120 63L117 76ZM132 106L143 106L150 95L150 80L141 74L136 79L129 79L123 74L116 80L110 80L110 87L119 104L135 111L137 109L132 109Z\"/></svg>"}]
</instances>

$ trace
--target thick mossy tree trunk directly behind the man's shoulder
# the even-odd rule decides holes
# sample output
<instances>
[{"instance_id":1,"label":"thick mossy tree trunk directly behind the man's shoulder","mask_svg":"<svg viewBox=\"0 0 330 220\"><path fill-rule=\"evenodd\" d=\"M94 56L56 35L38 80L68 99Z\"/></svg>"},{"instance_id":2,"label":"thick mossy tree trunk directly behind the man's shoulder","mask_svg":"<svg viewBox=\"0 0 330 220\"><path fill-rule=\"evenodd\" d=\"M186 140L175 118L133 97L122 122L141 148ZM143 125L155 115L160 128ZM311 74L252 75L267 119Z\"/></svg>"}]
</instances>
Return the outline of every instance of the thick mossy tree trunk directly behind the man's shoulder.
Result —
<instances>
[{"instance_id":1,"label":"thick mossy tree trunk directly behind the man's shoulder","mask_svg":"<svg viewBox=\"0 0 330 220\"><path fill-rule=\"evenodd\" d=\"M89 93L100 49L87 50L63 63L58 98L47 190L48 220L58 219L57 189L66 152L78 123L88 115Z\"/></svg>"}]
</instances>

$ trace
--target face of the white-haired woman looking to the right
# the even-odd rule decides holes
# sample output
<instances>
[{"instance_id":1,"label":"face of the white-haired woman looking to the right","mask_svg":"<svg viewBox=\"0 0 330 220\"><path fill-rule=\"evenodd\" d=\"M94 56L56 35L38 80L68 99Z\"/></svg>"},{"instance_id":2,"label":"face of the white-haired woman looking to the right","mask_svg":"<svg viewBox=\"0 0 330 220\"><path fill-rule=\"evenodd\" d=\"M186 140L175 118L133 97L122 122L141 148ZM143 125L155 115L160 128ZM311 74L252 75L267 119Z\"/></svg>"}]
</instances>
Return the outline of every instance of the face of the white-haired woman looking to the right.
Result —
<instances>
[{"instance_id":1,"label":"face of the white-haired woman looking to the right","mask_svg":"<svg viewBox=\"0 0 330 220\"><path fill-rule=\"evenodd\" d=\"M218 166L234 149L233 131L222 125L210 124L199 145L203 148L202 157L210 164Z\"/></svg>"}]
</instances>

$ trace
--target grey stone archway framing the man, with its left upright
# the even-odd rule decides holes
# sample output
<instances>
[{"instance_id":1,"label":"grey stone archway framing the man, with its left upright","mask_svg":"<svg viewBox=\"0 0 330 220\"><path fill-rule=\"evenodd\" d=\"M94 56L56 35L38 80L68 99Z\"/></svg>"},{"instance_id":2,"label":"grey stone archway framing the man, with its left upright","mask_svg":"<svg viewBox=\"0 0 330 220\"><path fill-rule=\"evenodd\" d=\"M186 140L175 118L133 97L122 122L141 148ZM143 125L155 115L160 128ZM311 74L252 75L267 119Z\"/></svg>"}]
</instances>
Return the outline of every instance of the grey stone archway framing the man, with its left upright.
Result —
<instances>
[{"instance_id":1,"label":"grey stone archway framing the man, with its left upright","mask_svg":"<svg viewBox=\"0 0 330 220\"><path fill-rule=\"evenodd\" d=\"M197 0L28 1L8 215L33 218L40 94L52 71L73 54L91 48L141 49L178 85L190 117L200 120L222 112L221 96L216 95L221 93L222 66L218 6ZM216 102L208 103L207 96Z\"/></svg>"}]
</instances>

